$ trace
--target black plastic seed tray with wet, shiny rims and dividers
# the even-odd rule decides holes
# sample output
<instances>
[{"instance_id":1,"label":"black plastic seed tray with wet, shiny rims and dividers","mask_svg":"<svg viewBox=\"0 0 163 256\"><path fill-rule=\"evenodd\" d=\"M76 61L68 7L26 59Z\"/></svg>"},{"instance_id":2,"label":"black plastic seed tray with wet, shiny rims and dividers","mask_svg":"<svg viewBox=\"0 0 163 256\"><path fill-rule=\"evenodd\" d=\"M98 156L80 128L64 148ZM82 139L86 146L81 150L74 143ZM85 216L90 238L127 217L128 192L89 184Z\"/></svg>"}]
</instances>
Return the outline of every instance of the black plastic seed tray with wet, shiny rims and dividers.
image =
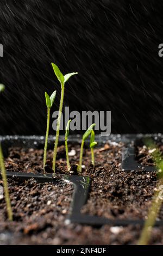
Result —
<instances>
[{"instance_id":1,"label":"black plastic seed tray with wet, shiny rims and dividers","mask_svg":"<svg viewBox=\"0 0 163 256\"><path fill-rule=\"evenodd\" d=\"M144 137L153 137L155 140L159 137L163 139L162 135L111 135L108 137L97 136L96 141L98 144L103 144L106 142L123 142L125 144L122 150L122 169L126 171L137 170L142 168L149 171L155 170L153 167L140 166L139 163L135 161L135 144L138 139ZM22 147L22 148L43 148L45 138L43 136L3 136L0 137L4 155L8 155L9 147ZM53 148L54 137L49 137L49 148ZM70 136L69 141L71 143L79 143L80 136ZM60 143L64 143L64 137L60 137ZM8 178L18 178L22 181L34 178L37 182L53 182L57 183L55 174L32 174L32 173L16 173L7 172ZM69 223L80 223L89 224L94 226L101 226L104 224L109 225L142 225L143 220L110 220L108 218L84 215L80 213L83 205L86 203L89 197L89 190L91 185L91 179L89 176L77 176L77 175L60 175L61 179L65 182L72 182L74 187L73 199L70 209L70 215L66 218L66 224ZM155 225L163 225L163 221L156 221Z\"/></svg>"}]
</instances>

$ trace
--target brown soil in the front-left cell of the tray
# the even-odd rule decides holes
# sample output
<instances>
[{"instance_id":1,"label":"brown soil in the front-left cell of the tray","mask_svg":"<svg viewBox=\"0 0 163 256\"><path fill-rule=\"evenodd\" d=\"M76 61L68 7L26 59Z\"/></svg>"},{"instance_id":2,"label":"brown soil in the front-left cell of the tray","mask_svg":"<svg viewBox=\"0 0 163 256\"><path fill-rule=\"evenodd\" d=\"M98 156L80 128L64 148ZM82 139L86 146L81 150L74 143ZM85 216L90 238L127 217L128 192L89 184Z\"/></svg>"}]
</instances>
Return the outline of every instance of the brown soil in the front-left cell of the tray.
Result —
<instances>
[{"instance_id":1,"label":"brown soil in the front-left cell of the tray","mask_svg":"<svg viewBox=\"0 0 163 256\"><path fill-rule=\"evenodd\" d=\"M68 214L72 185L61 179L54 185L37 184L34 179L20 182L15 178L8 179L8 184L14 221L7 220L5 201L1 199L0 245L48 243L49 234L52 237L58 232Z\"/></svg>"}]
</instances>

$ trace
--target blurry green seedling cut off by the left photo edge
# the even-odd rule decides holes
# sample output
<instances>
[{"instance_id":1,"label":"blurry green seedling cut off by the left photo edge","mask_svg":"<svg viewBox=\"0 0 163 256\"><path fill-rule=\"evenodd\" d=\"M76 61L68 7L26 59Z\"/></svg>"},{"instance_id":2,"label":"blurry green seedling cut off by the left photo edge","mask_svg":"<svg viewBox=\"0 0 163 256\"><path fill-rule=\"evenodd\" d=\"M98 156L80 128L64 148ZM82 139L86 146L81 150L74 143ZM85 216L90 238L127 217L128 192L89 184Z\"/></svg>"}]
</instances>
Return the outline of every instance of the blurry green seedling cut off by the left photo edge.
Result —
<instances>
[{"instance_id":1,"label":"blurry green seedling cut off by the left photo edge","mask_svg":"<svg viewBox=\"0 0 163 256\"><path fill-rule=\"evenodd\" d=\"M0 84L0 93L4 90L4 88L5 88L4 85ZM4 198L7 204L8 218L9 218L9 221L12 221L13 220L12 209L11 209L11 203L10 203L10 197L9 197L8 181L7 181L1 142L0 142L0 168L1 168L1 174L2 174L2 180L3 180L3 187L4 187Z\"/></svg>"}]
</instances>

